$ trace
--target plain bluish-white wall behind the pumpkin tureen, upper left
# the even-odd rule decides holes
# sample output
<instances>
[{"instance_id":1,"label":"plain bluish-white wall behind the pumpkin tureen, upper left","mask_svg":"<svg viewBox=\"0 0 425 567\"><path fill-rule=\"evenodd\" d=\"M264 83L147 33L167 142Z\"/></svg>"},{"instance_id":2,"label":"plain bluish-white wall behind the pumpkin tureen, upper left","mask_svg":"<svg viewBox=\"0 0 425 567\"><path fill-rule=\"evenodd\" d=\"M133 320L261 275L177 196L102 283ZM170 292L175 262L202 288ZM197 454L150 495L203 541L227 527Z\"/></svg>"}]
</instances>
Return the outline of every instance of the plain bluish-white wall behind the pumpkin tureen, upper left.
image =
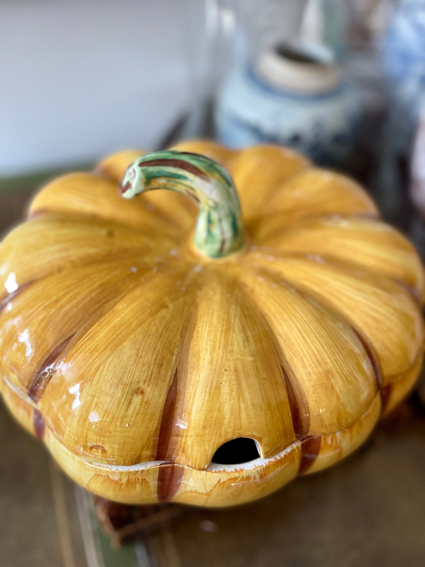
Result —
<instances>
[{"instance_id":1,"label":"plain bluish-white wall behind the pumpkin tureen, upper left","mask_svg":"<svg viewBox=\"0 0 425 567\"><path fill-rule=\"evenodd\" d=\"M202 4L0 0L0 176L154 149L189 104Z\"/></svg>"}]
</instances>

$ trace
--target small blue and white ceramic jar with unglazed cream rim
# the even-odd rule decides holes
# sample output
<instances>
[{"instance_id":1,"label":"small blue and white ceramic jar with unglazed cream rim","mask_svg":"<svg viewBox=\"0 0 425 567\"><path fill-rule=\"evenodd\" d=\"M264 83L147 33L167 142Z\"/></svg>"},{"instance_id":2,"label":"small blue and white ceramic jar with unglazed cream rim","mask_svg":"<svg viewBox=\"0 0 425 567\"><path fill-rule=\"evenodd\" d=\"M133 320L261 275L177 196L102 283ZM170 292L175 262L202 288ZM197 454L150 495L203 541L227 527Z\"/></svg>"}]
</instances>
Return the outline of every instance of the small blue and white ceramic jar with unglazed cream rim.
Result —
<instances>
[{"instance_id":1,"label":"small blue and white ceramic jar with unglazed cream rim","mask_svg":"<svg viewBox=\"0 0 425 567\"><path fill-rule=\"evenodd\" d=\"M322 46L279 45L237 67L216 101L215 127L230 147L278 143L316 162L343 163L359 124L354 87Z\"/></svg>"}]
</instances>

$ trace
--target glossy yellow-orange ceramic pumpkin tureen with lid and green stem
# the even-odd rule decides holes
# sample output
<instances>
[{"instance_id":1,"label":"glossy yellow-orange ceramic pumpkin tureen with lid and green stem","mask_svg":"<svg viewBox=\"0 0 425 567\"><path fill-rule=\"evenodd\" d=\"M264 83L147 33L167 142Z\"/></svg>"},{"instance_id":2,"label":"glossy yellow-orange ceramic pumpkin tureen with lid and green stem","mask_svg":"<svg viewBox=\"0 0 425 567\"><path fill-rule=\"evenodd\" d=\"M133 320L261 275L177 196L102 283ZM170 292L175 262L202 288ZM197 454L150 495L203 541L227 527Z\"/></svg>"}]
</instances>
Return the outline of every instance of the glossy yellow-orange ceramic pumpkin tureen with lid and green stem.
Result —
<instances>
[{"instance_id":1,"label":"glossy yellow-orange ceramic pumpkin tureen with lid and green stem","mask_svg":"<svg viewBox=\"0 0 425 567\"><path fill-rule=\"evenodd\" d=\"M418 376L414 248L290 150L141 154L52 181L1 244L11 412L121 502L233 505L338 462Z\"/></svg>"}]
</instances>

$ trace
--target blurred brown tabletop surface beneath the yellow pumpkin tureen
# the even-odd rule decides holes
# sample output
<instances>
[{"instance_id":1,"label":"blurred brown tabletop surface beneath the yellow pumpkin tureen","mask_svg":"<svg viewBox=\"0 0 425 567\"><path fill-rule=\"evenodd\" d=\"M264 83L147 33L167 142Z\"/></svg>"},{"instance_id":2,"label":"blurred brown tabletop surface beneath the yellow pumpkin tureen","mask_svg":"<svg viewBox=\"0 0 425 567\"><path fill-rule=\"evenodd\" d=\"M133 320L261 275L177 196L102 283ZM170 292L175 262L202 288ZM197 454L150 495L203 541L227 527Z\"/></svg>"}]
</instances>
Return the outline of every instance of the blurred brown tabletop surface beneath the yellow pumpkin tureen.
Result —
<instances>
[{"instance_id":1,"label":"blurred brown tabletop surface beneath the yellow pumpkin tureen","mask_svg":"<svg viewBox=\"0 0 425 567\"><path fill-rule=\"evenodd\" d=\"M0 231L16 222L28 195L29 187L0 191ZM403 404L355 455L264 500L191 509L145 542L148 559L139 565L423 567L425 413L418 408ZM85 567L72 483L1 404L0 435L0 566Z\"/></svg>"}]
</instances>

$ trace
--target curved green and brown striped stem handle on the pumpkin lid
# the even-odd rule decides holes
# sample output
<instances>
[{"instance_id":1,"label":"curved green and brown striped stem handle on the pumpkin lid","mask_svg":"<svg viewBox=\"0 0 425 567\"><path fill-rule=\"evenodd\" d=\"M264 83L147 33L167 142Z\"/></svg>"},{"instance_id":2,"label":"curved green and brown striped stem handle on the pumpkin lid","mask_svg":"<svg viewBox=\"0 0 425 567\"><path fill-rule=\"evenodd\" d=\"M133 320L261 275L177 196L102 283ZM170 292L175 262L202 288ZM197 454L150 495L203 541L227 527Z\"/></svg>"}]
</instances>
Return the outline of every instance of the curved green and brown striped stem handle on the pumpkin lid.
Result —
<instances>
[{"instance_id":1,"label":"curved green and brown striped stem handle on the pumpkin lid","mask_svg":"<svg viewBox=\"0 0 425 567\"><path fill-rule=\"evenodd\" d=\"M239 198L232 177L220 164L174 150L143 155L126 171L122 196L131 199L152 189L171 189L197 202L194 243L203 255L221 258L243 246Z\"/></svg>"}]
</instances>

